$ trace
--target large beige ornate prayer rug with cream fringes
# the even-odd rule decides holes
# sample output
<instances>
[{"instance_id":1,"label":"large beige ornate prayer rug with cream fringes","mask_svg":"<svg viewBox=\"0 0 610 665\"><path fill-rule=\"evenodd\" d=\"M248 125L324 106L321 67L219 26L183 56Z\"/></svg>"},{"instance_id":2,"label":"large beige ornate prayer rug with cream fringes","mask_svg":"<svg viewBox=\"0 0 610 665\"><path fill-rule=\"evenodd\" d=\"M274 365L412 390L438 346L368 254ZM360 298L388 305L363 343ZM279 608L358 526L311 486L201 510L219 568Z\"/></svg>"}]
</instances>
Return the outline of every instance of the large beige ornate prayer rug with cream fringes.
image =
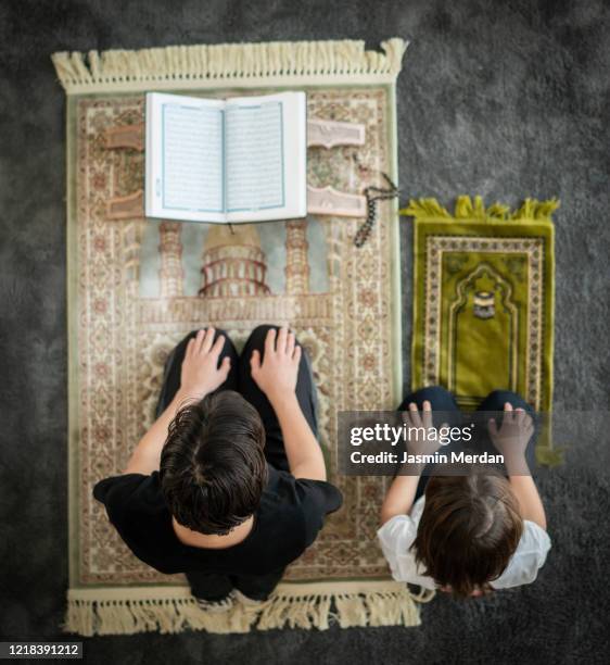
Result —
<instances>
[{"instance_id":1,"label":"large beige ornate prayer rug with cream fringes","mask_svg":"<svg viewBox=\"0 0 610 665\"><path fill-rule=\"evenodd\" d=\"M234 96L307 91L308 117L359 123L363 146L313 148L308 183L361 193L396 173L395 78L406 45L298 42L58 53L67 93L69 305L69 577L66 629L82 635L284 625L415 625L404 586L376 542L381 478L336 473L336 414L394 409L401 390L397 214L309 215L247 226L120 213L143 187L141 147L109 148L109 129L143 122L144 91ZM118 214L111 202L118 201ZM116 212L116 208L115 208ZM207 324L239 343L260 323L289 324L313 359L321 444L344 506L262 608L209 615L182 576L136 559L91 494L120 473L151 425L167 353Z\"/></svg>"}]
</instances>

